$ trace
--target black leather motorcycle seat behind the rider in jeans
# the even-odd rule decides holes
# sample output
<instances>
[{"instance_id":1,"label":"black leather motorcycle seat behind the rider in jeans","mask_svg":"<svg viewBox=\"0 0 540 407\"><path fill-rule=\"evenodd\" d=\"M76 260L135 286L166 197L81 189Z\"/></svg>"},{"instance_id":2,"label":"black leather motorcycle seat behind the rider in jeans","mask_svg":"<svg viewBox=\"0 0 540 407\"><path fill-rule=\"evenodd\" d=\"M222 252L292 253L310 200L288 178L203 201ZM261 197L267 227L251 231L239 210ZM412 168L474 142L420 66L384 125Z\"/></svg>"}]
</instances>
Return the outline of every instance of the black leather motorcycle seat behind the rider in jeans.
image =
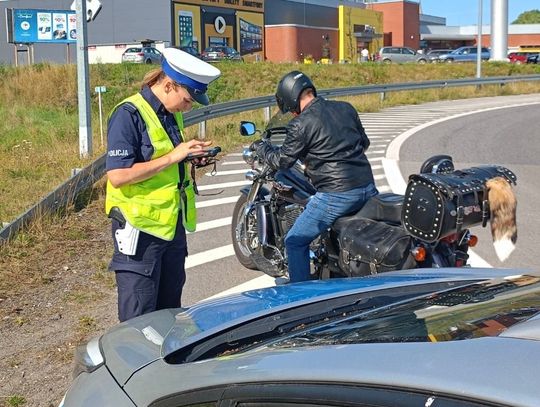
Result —
<instances>
[{"instance_id":1,"label":"black leather motorcycle seat behind the rider in jeans","mask_svg":"<svg viewBox=\"0 0 540 407\"><path fill-rule=\"evenodd\" d=\"M368 218L382 221L392 225L401 224L401 209L403 208L403 195L385 193L371 198L357 213L344 216L336 220L333 229L341 230L352 220Z\"/></svg>"}]
</instances>

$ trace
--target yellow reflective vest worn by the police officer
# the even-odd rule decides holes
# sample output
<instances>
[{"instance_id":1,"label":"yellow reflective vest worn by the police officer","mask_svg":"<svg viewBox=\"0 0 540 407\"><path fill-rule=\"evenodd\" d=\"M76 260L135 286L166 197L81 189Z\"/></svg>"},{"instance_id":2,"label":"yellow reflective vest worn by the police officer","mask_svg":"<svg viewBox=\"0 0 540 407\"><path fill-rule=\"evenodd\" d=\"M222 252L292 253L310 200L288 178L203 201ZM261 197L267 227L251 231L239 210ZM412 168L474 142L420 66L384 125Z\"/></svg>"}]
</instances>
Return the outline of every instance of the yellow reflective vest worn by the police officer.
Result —
<instances>
[{"instance_id":1,"label":"yellow reflective vest worn by the police officer","mask_svg":"<svg viewBox=\"0 0 540 407\"><path fill-rule=\"evenodd\" d=\"M131 103L141 114L152 142L152 160L174 149L169 135L159 121L156 112L140 93L133 95L115 106L113 112L123 103ZM176 123L182 130L184 121L181 113L175 114ZM182 164L179 164L182 165ZM180 184L180 174L176 165L171 165L147 180L120 188L107 181L105 212L117 206L136 229L164 240L172 240L175 235L179 212L186 230L193 232L197 223L195 192L189 179L188 164L185 163L184 180ZM179 186L182 185L181 188Z\"/></svg>"}]
</instances>

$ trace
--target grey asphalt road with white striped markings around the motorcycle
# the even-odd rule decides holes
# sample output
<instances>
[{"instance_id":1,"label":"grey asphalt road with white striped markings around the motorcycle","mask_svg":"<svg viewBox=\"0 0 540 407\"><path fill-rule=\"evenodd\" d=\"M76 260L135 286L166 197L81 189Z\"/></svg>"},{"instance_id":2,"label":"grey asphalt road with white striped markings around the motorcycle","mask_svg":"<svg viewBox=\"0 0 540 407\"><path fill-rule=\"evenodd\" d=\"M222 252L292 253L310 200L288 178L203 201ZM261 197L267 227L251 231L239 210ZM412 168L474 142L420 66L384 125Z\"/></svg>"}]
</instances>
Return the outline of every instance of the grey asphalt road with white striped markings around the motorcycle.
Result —
<instances>
[{"instance_id":1,"label":"grey asphalt road with white striped markings around the motorcycle","mask_svg":"<svg viewBox=\"0 0 540 407\"><path fill-rule=\"evenodd\" d=\"M522 106L508 107L518 104ZM475 252L494 267L534 267L538 245L533 231L540 222L535 204L540 202L540 160L536 158L540 156L540 128L535 123L539 113L540 94L535 94L400 106L360 113L360 117L371 139L368 158L380 192L399 193L391 180L399 179L404 185L403 178L417 172L433 154L452 155L456 168L496 163L514 171L518 176L517 249L504 264L498 263L489 229L477 227L474 232L480 242ZM249 120L249 115L242 119ZM386 163L392 161L397 165L387 168ZM197 199L199 222L197 232L188 236L184 306L227 290L273 284L261 272L240 265L232 249L230 218L240 188L249 184L244 179L247 169L237 152L221 159L215 176L199 181L201 194L218 194Z\"/></svg>"}]
</instances>

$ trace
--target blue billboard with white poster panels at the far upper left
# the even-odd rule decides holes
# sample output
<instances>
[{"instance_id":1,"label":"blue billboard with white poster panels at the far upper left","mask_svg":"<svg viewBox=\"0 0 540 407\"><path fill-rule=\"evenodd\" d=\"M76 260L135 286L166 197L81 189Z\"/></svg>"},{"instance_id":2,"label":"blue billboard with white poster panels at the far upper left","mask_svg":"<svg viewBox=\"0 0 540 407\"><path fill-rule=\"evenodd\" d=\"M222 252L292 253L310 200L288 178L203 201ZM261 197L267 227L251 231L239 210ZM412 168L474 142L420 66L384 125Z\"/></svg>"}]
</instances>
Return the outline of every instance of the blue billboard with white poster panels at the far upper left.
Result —
<instances>
[{"instance_id":1,"label":"blue billboard with white poster panels at the far upper left","mask_svg":"<svg viewBox=\"0 0 540 407\"><path fill-rule=\"evenodd\" d=\"M77 17L71 10L7 9L8 40L15 44L75 43Z\"/></svg>"}]
</instances>

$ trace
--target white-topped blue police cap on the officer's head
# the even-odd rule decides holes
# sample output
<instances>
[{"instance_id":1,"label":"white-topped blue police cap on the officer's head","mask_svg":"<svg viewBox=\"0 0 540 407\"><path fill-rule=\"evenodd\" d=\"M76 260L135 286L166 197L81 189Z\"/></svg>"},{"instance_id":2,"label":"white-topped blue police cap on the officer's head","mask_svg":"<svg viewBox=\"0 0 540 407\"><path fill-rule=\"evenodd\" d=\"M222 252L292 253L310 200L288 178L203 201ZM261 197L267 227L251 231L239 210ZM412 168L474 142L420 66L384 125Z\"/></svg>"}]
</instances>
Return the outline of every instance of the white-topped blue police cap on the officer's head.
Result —
<instances>
[{"instance_id":1,"label":"white-topped blue police cap on the officer's head","mask_svg":"<svg viewBox=\"0 0 540 407\"><path fill-rule=\"evenodd\" d=\"M161 61L163 72L173 81L184 85L193 99L202 105L210 103L208 84L221 75L215 66L177 48L165 48Z\"/></svg>"}]
</instances>

